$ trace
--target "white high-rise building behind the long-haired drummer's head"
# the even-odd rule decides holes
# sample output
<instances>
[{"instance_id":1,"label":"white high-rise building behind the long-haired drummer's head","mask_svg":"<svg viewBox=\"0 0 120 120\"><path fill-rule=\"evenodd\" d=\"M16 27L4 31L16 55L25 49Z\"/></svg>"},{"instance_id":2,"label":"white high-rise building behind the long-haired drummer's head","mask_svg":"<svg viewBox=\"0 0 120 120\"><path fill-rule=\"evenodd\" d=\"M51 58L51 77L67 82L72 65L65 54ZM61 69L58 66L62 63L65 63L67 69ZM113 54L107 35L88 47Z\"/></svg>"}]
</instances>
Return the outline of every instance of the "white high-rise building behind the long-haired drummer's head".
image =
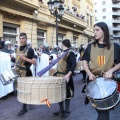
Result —
<instances>
[{"instance_id":1,"label":"white high-rise building behind the long-haired drummer's head","mask_svg":"<svg viewBox=\"0 0 120 120\"><path fill-rule=\"evenodd\" d=\"M94 8L95 23L107 23L111 39L120 44L120 0L95 0Z\"/></svg>"}]
</instances>

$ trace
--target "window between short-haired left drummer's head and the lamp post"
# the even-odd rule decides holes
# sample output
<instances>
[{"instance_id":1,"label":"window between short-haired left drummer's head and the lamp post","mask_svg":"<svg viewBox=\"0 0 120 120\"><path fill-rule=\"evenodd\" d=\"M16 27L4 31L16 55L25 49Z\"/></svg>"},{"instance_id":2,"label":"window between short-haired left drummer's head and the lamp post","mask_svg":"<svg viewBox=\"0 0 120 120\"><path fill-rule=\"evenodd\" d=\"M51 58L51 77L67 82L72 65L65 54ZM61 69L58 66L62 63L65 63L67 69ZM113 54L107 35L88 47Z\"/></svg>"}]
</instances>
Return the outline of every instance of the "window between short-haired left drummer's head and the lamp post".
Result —
<instances>
[{"instance_id":1,"label":"window between short-haired left drummer's head and the lamp post","mask_svg":"<svg viewBox=\"0 0 120 120\"><path fill-rule=\"evenodd\" d=\"M46 31L37 30L37 47L43 45L46 42Z\"/></svg>"}]
</instances>

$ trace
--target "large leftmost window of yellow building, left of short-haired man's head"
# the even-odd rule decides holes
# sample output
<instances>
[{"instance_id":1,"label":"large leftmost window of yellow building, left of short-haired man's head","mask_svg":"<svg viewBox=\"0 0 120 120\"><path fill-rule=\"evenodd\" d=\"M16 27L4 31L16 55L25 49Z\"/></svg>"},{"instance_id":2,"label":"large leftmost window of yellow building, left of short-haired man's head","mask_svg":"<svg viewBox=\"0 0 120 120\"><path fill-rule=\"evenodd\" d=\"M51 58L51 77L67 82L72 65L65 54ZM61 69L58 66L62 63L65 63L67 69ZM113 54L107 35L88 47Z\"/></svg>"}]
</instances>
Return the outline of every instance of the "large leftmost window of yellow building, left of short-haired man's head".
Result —
<instances>
[{"instance_id":1,"label":"large leftmost window of yellow building, left of short-haired man's head","mask_svg":"<svg viewBox=\"0 0 120 120\"><path fill-rule=\"evenodd\" d=\"M5 40L10 40L13 47L15 47L16 41L19 39L19 26L3 23L3 38Z\"/></svg>"}]
</instances>

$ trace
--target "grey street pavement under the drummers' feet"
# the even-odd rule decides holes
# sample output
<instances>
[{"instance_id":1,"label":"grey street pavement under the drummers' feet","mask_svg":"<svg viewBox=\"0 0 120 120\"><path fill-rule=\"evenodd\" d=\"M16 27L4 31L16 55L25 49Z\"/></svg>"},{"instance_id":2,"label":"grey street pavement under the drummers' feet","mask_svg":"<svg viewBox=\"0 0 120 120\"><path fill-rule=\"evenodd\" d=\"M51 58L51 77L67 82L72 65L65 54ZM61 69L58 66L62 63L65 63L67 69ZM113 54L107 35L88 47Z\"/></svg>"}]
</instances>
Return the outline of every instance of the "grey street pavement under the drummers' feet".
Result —
<instances>
[{"instance_id":1,"label":"grey street pavement under the drummers' feet","mask_svg":"<svg viewBox=\"0 0 120 120\"><path fill-rule=\"evenodd\" d=\"M89 103L84 104L85 94L81 93L84 82L82 75L75 76L75 96L71 100L70 116L66 120L96 120L97 112ZM61 120L53 116L53 112L59 110L58 104L52 104L50 108L46 105L28 105L28 112L18 117L17 113L22 104L15 96L10 95L6 100L0 100L0 120ZM120 120L120 104L110 112L110 120Z\"/></svg>"}]
</instances>

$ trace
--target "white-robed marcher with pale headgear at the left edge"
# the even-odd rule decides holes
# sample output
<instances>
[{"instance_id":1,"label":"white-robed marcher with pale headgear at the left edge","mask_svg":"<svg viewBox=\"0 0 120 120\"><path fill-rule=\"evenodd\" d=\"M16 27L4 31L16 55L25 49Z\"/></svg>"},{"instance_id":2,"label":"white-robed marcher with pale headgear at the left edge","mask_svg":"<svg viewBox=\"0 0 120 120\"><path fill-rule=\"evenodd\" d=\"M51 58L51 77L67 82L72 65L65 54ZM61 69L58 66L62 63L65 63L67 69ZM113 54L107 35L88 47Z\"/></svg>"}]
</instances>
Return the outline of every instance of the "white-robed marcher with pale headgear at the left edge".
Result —
<instances>
[{"instance_id":1,"label":"white-robed marcher with pale headgear at the left edge","mask_svg":"<svg viewBox=\"0 0 120 120\"><path fill-rule=\"evenodd\" d=\"M7 70L11 70L11 62L13 60L13 51L10 49L11 44L10 41L5 41L4 48L0 50L0 75ZM12 92L13 83L5 86L0 81L0 98L6 99L7 95Z\"/></svg>"}]
</instances>

